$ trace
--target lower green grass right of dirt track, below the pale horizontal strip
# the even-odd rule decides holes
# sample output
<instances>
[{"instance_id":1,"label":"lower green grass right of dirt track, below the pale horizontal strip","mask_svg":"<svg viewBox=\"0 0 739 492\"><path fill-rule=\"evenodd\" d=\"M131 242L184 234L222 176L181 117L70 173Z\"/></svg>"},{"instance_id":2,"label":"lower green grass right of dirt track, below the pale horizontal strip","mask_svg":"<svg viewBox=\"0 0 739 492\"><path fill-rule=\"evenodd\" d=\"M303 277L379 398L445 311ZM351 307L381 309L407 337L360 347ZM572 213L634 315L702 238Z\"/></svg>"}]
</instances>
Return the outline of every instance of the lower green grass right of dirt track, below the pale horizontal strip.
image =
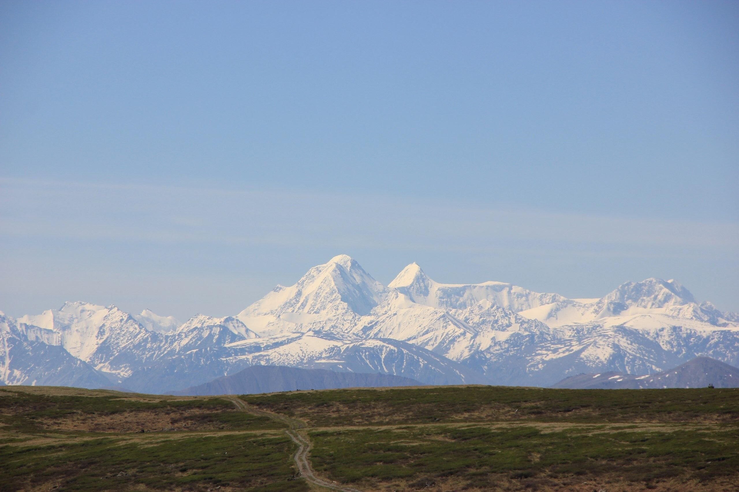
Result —
<instances>
[{"instance_id":1,"label":"lower green grass right of dirt track, below the pale horizontal strip","mask_svg":"<svg viewBox=\"0 0 739 492\"><path fill-rule=\"evenodd\" d=\"M739 429L725 429L719 436L670 430L428 426L321 431L310 437L317 470L360 486L403 479L420 487L452 480L460 489L492 490L501 479L532 488L567 486L574 478L617 476L650 484L675 477L706 482L737 476Z\"/></svg>"}]
</instances>

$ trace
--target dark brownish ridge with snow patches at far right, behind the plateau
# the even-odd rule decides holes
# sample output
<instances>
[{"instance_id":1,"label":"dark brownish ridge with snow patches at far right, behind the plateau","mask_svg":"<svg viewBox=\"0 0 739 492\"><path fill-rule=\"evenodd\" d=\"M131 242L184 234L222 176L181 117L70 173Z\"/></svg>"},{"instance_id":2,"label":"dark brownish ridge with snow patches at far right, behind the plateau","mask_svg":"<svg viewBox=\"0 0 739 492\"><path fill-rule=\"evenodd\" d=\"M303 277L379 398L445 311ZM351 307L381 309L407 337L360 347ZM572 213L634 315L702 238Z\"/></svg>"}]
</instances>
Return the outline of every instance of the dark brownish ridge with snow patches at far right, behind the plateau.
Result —
<instances>
[{"instance_id":1,"label":"dark brownish ridge with snow patches at far right, behind the plateau","mask_svg":"<svg viewBox=\"0 0 739 492\"><path fill-rule=\"evenodd\" d=\"M659 389L739 388L739 369L710 357L696 357L681 366L649 375L623 373L578 374L562 379L553 388Z\"/></svg>"}]
</instances>

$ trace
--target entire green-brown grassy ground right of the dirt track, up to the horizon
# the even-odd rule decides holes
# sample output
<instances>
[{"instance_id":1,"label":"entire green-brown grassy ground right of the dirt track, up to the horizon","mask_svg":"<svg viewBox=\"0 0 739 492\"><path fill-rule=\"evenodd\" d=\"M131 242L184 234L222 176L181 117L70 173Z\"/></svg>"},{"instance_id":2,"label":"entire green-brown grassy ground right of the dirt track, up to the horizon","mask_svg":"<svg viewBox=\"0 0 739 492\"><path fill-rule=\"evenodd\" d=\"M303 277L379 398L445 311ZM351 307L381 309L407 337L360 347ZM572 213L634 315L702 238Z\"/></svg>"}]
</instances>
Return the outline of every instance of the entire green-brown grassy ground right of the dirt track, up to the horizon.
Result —
<instances>
[{"instance_id":1,"label":"entire green-brown grassy ground right of the dirt track, up to the horizon","mask_svg":"<svg viewBox=\"0 0 739 492\"><path fill-rule=\"evenodd\" d=\"M316 470L360 489L730 491L739 483L739 389L477 386L241 398L305 420Z\"/></svg>"}]
</instances>

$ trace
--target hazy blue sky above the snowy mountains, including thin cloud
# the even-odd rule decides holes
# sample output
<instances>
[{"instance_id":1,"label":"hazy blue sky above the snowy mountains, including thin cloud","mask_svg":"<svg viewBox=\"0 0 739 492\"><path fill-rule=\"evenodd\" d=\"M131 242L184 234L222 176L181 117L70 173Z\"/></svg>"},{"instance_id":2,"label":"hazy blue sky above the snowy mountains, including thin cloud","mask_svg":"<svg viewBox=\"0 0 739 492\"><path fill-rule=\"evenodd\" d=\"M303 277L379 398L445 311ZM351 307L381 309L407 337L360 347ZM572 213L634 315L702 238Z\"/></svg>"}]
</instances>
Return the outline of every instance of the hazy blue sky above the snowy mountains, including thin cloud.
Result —
<instances>
[{"instance_id":1,"label":"hazy blue sky above the snowy mountains, including thin cloud","mask_svg":"<svg viewBox=\"0 0 739 492\"><path fill-rule=\"evenodd\" d=\"M383 283L739 310L736 1L0 3L0 310Z\"/></svg>"}]
</instances>

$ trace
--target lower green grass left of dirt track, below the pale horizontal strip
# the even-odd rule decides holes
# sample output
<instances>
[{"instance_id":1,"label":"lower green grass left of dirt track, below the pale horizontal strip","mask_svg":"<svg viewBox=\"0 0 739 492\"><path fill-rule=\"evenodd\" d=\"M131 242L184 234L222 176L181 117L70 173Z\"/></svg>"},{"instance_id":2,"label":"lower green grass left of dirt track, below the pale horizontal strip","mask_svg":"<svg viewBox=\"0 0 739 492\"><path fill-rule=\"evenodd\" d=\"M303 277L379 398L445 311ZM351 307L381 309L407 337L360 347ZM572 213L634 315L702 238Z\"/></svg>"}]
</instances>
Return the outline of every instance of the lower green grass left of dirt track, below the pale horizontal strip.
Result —
<instances>
[{"instance_id":1,"label":"lower green grass left of dirt track, below the pale horizontal strip","mask_svg":"<svg viewBox=\"0 0 739 492\"><path fill-rule=\"evenodd\" d=\"M66 491L205 490L306 491L284 434L185 437L149 443L101 438L56 446L0 446L0 489L55 483Z\"/></svg>"}]
</instances>

